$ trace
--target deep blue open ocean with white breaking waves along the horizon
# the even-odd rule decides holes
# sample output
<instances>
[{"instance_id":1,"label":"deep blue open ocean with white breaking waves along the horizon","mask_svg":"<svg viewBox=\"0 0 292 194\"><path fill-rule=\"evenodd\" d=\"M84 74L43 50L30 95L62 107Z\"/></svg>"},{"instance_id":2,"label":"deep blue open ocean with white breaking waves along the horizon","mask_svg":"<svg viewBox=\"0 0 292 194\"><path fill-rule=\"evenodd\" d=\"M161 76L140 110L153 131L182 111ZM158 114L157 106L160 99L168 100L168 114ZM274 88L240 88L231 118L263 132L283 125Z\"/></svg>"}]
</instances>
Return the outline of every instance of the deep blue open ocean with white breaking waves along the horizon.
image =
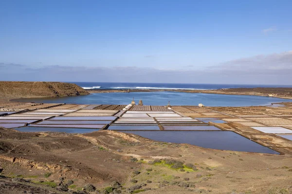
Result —
<instances>
[{"instance_id":1,"label":"deep blue open ocean with white breaking waves along the horizon","mask_svg":"<svg viewBox=\"0 0 292 194\"><path fill-rule=\"evenodd\" d=\"M73 82L86 89L221 89L256 87L292 87L292 85L246 85L246 84L202 84L202 83L117 83L117 82Z\"/></svg>"}]
</instances>

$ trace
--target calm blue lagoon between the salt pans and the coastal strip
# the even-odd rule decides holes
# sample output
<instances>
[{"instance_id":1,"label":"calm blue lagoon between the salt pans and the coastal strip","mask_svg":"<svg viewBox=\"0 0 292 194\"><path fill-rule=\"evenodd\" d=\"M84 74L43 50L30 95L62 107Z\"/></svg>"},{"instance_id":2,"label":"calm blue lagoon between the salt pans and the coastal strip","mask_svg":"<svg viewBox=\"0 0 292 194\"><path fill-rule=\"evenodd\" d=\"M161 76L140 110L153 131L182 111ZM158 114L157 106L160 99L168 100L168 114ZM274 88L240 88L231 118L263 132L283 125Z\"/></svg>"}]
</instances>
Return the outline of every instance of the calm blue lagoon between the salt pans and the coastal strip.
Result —
<instances>
[{"instance_id":1,"label":"calm blue lagoon between the salt pans and the coastal strip","mask_svg":"<svg viewBox=\"0 0 292 194\"><path fill-rule=\"evenodd\" d=\"M87 96L60 98L29 98L27 102L39 103L75 103L75 104L129 104L134 97L136 103L142 99L144 105L196 105L205 106L257 106L270 105L272 102L292 100L275 97L218 95L184 92L130 92L130 93L96 93Z\"/></svg>"}]
</instances>

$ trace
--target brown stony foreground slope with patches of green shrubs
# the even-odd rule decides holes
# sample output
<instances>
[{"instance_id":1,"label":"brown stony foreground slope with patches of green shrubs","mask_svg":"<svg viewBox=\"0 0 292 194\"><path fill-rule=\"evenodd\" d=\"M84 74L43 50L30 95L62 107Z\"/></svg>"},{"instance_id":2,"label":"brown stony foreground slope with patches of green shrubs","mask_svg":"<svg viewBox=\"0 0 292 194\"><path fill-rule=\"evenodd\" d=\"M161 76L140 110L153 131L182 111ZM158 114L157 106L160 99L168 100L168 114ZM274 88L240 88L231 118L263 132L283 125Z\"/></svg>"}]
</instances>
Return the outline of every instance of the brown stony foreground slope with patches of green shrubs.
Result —
<instances>
[{"instance_id":1,"label":"brown stony foreground slope with patches of green shrubs","mask_svg":"<svg viewBox=\"0 0 292 194\"><path fill-rule=\"evenodd\" d=\"M0 129L0 193L291 194L292 155Z\"/></svg>"}]
</instances>

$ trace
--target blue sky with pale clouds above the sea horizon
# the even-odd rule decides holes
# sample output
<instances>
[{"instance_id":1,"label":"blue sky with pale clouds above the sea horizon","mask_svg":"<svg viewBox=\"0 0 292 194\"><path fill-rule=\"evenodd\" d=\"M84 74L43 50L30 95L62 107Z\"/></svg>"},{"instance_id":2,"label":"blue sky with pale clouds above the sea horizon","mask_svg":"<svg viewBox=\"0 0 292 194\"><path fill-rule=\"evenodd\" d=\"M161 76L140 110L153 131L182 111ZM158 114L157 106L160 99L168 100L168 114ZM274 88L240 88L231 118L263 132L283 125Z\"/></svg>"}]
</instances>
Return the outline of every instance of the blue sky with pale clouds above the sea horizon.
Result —
<instances>
[{"instance_id":1,"label":"blue sky with pale clouds above the sea horizon","mask_svg":"<svg viewBox=\"0 0 292 194\"><path fill-rule=\"evenodd\" d=\"M0 80L285 84L291 7L291 0L1 0Z\"/></svg>"}]
</instances>

